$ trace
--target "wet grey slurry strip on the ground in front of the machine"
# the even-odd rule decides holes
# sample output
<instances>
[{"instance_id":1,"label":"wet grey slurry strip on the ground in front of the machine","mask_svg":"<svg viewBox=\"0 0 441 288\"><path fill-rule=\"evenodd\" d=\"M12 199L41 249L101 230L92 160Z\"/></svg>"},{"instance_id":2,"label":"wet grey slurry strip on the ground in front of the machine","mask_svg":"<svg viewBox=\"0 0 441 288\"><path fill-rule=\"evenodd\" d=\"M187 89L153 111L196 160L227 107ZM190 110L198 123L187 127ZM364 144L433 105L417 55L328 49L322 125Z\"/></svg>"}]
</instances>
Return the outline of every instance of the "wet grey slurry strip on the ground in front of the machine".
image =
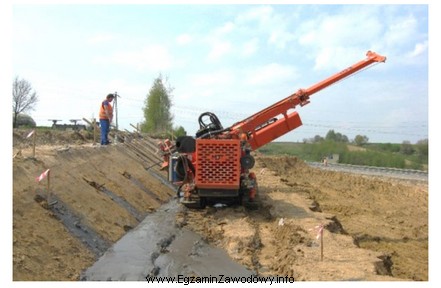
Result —
<instances>
[{"instance_id":1,"label":"wet grey slurry strip on the ground in front of the machine","mask_svg":"<svg viewBox=\"0 0 441 288\"><path fill-rule=\"evenodd\" d=\"M175 221L177 200L162 205L116 242L98 261L83 272L86 281L153 281L154 277L251 276L201 236L181 228Z\"/></svg>"}]
</instances>

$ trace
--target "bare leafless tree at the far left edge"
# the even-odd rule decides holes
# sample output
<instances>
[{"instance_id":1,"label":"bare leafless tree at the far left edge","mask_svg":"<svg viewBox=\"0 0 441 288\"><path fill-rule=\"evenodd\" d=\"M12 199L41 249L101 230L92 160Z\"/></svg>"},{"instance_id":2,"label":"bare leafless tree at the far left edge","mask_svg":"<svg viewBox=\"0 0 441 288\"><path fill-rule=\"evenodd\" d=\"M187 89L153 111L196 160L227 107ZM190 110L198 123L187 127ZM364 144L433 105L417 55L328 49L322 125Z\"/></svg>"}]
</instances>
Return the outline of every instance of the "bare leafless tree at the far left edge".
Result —
<instances>
[{"instance_id":1,"label":"bare leafless tree at the far left edge","mask_svg":"<svg viewBox=\"0 0 441 288\"><path fill-rule=\"evenodd\" d=\"M17 118L22 112L34 110L38 102L37 92L32 91L32 85L25 79L15 77L12 83L12 113L13 127L17 128Z\"/></svg>"}]
</instances>

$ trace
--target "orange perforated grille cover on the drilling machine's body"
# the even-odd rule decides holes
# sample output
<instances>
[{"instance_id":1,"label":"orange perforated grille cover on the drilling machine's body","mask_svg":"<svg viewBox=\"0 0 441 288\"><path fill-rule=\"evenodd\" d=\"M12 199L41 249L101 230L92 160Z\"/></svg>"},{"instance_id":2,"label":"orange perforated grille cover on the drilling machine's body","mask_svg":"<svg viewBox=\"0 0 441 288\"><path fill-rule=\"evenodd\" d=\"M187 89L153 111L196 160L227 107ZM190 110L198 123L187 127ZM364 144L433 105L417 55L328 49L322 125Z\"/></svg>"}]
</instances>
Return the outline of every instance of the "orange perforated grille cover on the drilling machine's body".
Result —
<instances>
[{"instance_id":1,"label":"orange perforated grille cover on the drilling machine's body","mask_svg":"<svg viewBox=\"0 0 441 288\"><path fill-rule=\"evenodd\" d=\"M196 187L239 189L240 140L196 139Z\"/></svg>"}]
</instances>

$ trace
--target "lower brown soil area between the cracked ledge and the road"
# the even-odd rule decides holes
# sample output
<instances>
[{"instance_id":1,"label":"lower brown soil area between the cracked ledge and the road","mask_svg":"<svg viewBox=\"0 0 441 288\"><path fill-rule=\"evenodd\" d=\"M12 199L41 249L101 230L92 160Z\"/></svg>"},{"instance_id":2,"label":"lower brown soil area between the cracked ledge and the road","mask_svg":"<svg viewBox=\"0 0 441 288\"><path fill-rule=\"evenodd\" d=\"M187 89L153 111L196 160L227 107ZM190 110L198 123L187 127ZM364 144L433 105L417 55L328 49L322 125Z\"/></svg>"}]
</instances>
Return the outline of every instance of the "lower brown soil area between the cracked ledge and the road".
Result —
<instances>
[{"instance_id":1,"label":"lower brown soil area between the cracked ledge and the road","mask_svg":"<svg viewBox=\"0 0 441 288\"><path fill-rule=\"evenodd\" d=\"M427 183L289 169L293 161L287 159L278 159L277 165L271 158L261 161L286 179L293 192L304 193L321 211L335 215L359 247L385 254L393 262L393 276L428 279Z\"/></svg>"}]
</instances>

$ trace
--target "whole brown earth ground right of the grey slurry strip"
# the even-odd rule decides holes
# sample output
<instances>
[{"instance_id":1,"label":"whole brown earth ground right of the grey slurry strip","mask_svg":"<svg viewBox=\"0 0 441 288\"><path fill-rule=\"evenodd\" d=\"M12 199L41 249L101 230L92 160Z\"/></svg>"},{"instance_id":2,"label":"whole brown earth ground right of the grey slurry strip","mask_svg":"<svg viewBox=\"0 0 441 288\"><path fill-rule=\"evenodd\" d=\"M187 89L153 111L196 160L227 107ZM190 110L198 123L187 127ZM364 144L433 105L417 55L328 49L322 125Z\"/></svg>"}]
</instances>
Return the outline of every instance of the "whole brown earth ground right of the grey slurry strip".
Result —
<instances>
[{"instance_id":1,"label":"whole brown earth ground right of the grey slurry strip","mask_svg":"<svg viewBox=\"0 0 441 288\"><path fill-rule=\"evenodd\" d=\"M294 157L257 159L259 210L187 210L184 222L261 275L428 280L427 183L323 171Z\"/></svg>"}]
</instances>

